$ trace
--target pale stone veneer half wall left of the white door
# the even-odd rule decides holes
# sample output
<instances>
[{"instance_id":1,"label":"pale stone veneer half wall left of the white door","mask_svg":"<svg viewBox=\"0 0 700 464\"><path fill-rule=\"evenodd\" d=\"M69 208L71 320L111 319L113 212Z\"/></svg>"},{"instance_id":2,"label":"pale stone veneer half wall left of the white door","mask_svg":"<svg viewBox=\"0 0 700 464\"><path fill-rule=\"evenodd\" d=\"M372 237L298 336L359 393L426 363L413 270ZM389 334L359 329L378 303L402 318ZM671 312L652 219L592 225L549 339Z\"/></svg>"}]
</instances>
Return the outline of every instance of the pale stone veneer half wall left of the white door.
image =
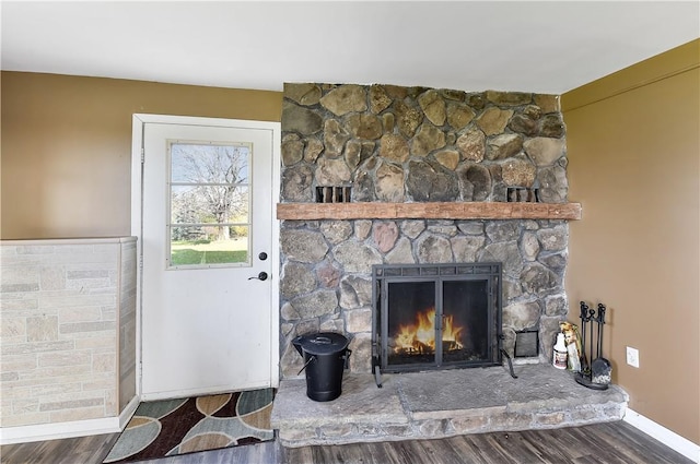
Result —
<instances>
[{"instance_id":1,"label":"pale stone veneer half wall left of the white door","mask_svg":"<svg viewBox=\"0 0 700 464\"><path fill-rule=\"evenodd\" d=\"M0 427L118 417L136 396L136 237L0 253Z\"/></svg>"}]
</instances>

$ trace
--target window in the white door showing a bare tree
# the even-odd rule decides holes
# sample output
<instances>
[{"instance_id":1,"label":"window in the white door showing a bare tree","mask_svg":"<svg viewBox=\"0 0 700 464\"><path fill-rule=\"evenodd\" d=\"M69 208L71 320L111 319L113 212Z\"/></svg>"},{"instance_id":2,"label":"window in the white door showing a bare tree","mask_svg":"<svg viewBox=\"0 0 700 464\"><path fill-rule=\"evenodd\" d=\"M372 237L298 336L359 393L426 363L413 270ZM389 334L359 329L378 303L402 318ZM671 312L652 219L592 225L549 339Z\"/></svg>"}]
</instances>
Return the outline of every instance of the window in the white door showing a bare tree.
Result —
<instances>
[{"instance_id":1,"label":"window in the white door showing a bare tree","mask_svg":"<svg viewBox=\"0 0 700 464\"><path fill-rule=\"evenodd\" d=\"M250 264L250 148L170 144L168 267Z\"/></svg>"}]
</instances>

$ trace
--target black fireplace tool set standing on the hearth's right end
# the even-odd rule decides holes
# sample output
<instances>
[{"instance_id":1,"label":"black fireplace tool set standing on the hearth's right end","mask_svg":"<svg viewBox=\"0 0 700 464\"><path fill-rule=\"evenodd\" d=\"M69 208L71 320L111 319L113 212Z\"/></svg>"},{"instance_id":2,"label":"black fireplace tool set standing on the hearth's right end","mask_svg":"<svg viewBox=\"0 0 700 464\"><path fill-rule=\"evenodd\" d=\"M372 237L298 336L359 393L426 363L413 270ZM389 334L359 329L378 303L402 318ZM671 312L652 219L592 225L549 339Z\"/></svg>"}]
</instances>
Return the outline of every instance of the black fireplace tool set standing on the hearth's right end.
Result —
<instances>
[{"instance_id":1,"label":"black fireplace tool set standing on the hearth's right end","mask_svg":"<svg viewBox=\"0 0 700 464\"><path fill-rule=\"evenodd\" d=\"M605 325L605 305L598 304L598 312L581 301L581 371L576 373L576 382L594 390L606 390L610 384L612 367L603 357L603 326ZM594 329L596 329L594 331ZM594 340L595 332L595 340ZM586 345L587 344L587 345ZM595 345L595 358L593 348ZM588 350L586 356L586 348Z\"/></svg>"}]
</instances>

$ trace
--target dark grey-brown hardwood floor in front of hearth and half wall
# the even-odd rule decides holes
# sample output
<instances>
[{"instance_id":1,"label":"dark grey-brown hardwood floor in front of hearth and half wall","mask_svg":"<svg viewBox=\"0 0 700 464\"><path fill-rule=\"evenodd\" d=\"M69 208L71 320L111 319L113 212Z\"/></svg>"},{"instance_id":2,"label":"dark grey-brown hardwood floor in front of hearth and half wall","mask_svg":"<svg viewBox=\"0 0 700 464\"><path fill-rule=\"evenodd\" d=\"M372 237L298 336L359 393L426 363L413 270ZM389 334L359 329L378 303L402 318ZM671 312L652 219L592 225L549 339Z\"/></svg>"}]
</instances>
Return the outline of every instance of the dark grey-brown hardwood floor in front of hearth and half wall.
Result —
<instances>
[{"instance_id":1,"label":"dark grey-brown hardwood floor in front of hearth and half wall","mask_svg":"<svg viewBox=\"0 0 700 464\"><path fill-rule=\"evenodd\" d=\"M2 464L101 464L118 435L0 448ZM149 464L691 464L627 423L284 449L277 441L148 461Z\"/></svg>"}]
</instances>

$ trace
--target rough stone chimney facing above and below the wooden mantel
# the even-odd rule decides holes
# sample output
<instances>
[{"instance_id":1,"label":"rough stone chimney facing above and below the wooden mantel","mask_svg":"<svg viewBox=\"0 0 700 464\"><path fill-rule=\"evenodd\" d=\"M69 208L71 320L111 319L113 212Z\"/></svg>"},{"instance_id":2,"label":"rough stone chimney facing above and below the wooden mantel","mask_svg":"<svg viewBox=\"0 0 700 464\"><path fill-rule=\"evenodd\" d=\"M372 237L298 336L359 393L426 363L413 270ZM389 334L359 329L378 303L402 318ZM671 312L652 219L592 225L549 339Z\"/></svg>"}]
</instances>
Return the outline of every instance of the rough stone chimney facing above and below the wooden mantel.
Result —
<instances>
[{"instance_id":1,"label":"rough stone chimney facing above and below the wooden mantel","mask_svg":"<svg viewBox=\"0 0 700 464\"><path fill-rule=\"evenodd\" d=\"M567 202L555 95L304 83L283 97L283 203L334 186L352 202L503 202L509 187ZM568 312L564 221L283 221L280 241L282 378L302 367L291 340L316 331L346 334L351 370L371 370L372 264L502 262L504 347L537 329L535 361Z\"/></svg>"}]
</instances>

